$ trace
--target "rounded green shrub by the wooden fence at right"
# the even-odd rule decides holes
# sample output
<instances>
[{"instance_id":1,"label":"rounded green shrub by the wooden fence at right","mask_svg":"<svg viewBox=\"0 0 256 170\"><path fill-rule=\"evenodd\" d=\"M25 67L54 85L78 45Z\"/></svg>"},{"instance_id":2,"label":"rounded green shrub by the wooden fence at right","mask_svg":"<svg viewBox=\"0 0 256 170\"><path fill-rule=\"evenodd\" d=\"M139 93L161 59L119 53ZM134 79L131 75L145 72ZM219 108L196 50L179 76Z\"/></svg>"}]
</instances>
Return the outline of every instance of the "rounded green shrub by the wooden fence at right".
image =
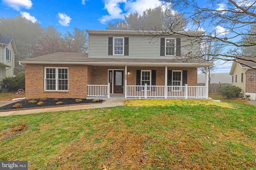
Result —
<instances>
[{"instance_id":1,"label":"rounded green shrub by the wooden fence at right","mask_svg":"<svg viewBox=\"0 0 256 170\"><path fill-rule=\"evenodd\" d=\"M220 93L226 98L238 98L241 95L242 89L237 86L222 86Z\"/></svg>"}]
</instances>

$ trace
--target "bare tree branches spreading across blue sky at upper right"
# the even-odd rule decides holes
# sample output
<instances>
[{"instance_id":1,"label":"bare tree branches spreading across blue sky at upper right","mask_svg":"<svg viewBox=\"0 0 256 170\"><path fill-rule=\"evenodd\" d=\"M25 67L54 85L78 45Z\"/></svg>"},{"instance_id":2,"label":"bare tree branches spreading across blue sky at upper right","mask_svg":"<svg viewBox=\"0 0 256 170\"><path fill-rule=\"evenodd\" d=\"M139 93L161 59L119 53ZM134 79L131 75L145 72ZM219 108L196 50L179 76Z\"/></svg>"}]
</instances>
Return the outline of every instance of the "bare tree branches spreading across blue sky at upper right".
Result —
<instances>
[{"instance_id":1,"label":"bare tree branches spreading across blue sky at upper right","mask_svg":"<svg viewBox=\"0 0 256 170\"><path fill-rule=\"evenodd\" d=\"M180 17L180 20L192 25L191 29L206 31L206 33L198 36L188 35L187 30L183 27L180 30L174 29L180 24L179 22L172 22L170 23L172 27L156 30L147 35L161 37L182 34L190 37L190 41L193 40L194 43L220 42L219 45L226 49L216 54L190 55L194 58L203 59L204 56L211 55L214 59L223 61L241 59L241 61L256 62L255 54L250 55L249 58L242 57L246 55L242 50L244 47L256 46L256 32L251 31L253 25L256 24L255 0L206 0L204 3L197 0L163 0L163 2L169 10L185 16L186 18Z\"/></svg>"}]
</instances>

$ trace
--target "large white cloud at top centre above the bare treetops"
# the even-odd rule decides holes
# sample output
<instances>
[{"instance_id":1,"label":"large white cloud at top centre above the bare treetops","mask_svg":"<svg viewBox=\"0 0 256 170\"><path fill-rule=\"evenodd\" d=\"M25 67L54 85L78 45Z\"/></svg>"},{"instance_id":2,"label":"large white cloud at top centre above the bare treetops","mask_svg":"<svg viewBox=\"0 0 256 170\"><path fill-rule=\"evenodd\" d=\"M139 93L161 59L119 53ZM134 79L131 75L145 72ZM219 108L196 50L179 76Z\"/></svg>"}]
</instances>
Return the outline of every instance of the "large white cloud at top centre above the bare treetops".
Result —
<instances>
[{"instance_id":1,"label":"large white cloud at top centre above the bare treetops","mask_svg":"<svg viewBox=\"0 0 256 170\"><path fill-rule=\"evenodd\" d=\"M143 11L149 8L155 8L161 5L160 0L104 0L105 10L108 10L108 15L100 18L100 23L106 23L114 19L124 19L130 13ZM120 6L123 6L121 9Z\"/></svg>"}]
</instances>

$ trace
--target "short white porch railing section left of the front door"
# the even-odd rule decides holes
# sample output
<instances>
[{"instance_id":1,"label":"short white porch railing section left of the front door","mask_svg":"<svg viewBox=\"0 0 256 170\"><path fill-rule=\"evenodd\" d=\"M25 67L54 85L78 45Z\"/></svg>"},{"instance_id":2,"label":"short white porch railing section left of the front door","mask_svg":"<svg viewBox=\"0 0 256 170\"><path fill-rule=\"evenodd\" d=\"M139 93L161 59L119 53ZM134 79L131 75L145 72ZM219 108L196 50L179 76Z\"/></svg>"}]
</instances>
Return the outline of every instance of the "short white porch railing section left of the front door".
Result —
<instances>
[{"instance_id":1,"label":"short white porch railing section left of the front door","mask_svg":"<svg viewBox=\"0 0 256 170\"><path fill-rule=\"evenodd\" d=\"M87 96L110 98L110 83L108 83L108 85L88 85Z\"/></svg>"}]
</instances>

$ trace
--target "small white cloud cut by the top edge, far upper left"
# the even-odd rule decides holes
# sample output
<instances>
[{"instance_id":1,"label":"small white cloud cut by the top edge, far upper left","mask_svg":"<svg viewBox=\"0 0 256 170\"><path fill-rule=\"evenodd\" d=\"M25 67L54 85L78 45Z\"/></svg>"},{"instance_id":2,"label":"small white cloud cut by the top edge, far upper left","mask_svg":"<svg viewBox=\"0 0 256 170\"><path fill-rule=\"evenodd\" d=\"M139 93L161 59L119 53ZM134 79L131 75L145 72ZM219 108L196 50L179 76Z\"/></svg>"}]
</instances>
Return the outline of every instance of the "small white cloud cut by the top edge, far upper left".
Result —
<instances>
[{"instance_id":1,"label":"small white cloud cut by the top edge, far upper left","mask_svg":"<svg viewBox=\"0 0 256 170\"><path fill-rule=\"evenodd\" d=\"M21 8L30 9L32 7L31 0L2 0L3 4L19 11Z\"/></svg>"}]
</instances>

